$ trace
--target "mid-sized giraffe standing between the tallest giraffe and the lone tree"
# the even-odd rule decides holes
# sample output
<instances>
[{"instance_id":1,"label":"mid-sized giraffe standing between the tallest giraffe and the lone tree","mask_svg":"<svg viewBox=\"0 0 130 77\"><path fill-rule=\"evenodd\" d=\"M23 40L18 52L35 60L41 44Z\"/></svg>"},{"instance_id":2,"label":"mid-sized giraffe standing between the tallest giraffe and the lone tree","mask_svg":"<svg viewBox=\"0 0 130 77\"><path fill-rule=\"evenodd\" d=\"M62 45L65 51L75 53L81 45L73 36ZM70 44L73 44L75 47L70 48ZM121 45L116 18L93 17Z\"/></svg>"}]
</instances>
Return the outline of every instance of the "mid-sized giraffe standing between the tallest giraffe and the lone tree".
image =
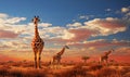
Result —
<instances>
[{"instance_id":1,"label":"mid-sized giraffe standing between the tallest giraffe and the lone tree","mask_svg":"<svg viewBox=\"0 0 130 77\"><path fill-rule=\"evenodd\" d=\"M69 48L67 46L64 46L63 49L53 56L54 64L61 63L61 59L62 59L63 53L65 52L65 49L69 49Z\"/></svg>"}]
</instances>

